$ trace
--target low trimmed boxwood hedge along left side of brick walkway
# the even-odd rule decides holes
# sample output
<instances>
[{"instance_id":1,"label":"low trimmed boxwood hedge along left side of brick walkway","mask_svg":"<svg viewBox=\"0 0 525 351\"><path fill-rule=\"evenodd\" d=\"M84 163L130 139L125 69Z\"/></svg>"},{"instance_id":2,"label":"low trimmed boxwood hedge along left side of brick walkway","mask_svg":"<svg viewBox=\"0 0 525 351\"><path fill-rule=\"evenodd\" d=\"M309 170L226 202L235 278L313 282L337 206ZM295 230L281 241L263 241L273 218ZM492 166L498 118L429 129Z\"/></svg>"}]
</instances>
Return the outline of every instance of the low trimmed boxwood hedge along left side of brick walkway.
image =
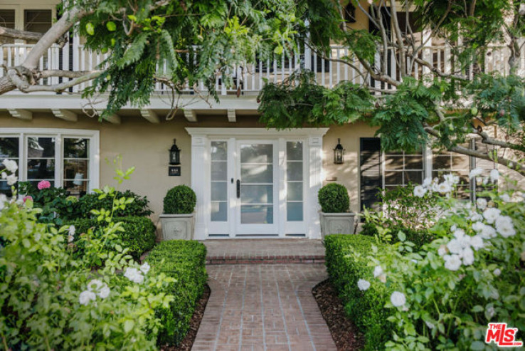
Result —
<instances>
[{"instance_id":1,"label":"low trimmed boxwood hedge along left side of brick walkway","mask_svg":"<svg viewBox=\"0 0 525 351\"><path fill-rule=\"evenodd\" d=\"M159 346L179 345L189 330L191 316L208 280L206 246L198 241L161 241L149 253L146 261L153 274L164 273L175 278L169 291L175 300L169 309L157 311L161 319Z\"/></svg>"}]
</instances>

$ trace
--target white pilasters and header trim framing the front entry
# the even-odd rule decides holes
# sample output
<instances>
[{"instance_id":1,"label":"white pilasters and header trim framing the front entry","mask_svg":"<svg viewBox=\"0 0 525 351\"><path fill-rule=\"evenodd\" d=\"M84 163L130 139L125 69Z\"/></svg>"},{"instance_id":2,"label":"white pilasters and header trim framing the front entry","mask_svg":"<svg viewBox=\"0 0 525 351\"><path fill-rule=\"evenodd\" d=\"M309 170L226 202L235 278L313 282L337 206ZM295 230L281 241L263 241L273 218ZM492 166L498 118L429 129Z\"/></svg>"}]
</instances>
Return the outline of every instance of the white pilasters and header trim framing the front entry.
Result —
<instances>
[{"instance_id":1,"label":"white pilasters and header trim framing the front entry","mask_svg":"<svg viewBox=\"0 0 525 351\"><path fill-rule=\"evenodd\" d=\"M309 239L320 239L319 204L317 192L322 186L322 137L328 128L301 128L295 130L275 130L267 128L213 128L213 127L188 127L186 131L191 135L191 187L196 192L196 225L195 239L208 239L208 218L210 216L209 184L210 184L210 141L215 139L228 140L228 147L233 146L234 140L280 140L279 145L285 145L285 140L302 139L304 143L304 174L305 218L307 226L306 236ZM279 162L282 162L282 156ZM280 167L282 168L282 167ZM229 172L228 172L229 173ZM280 177L281 179L281 177ZM277 185L279 189L282 184ZM279 206L279 205L277 205ZM279 207L280 208L280 207ZM284 215L283 215L284 216ZM282 217L282 216L280 216ZM230 221L235 221L231 218ZM284 223L280 221L280 237L284 236ZM230 222L232 223L232 222ZM233 222L234 223L234 222ZM230 226L233 229L233 226ZM283 231L281 233L281 231ZM231 232L230 232L231 236Z\"/></svg>"}]
</instances>

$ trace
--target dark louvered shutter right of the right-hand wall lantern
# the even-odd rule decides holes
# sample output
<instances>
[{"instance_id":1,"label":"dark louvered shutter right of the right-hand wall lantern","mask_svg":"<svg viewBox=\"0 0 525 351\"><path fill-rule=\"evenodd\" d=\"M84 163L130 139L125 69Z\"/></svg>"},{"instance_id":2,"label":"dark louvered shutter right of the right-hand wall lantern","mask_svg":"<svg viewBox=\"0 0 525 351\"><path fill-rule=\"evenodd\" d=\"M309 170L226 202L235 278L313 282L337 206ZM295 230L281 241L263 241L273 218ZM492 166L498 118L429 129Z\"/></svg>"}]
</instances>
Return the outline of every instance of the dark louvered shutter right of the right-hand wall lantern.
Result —
<instances>
[{"instance_id":1,"label":"dark louvered shutter right of the right-hand wall lantern","mask_svg":"<svg viewBox=\"0 0 525 351\"><path fill-rule=\"evenodd\" d=\"M359 164L361 165L361 211L378 208L378 188L383 187L381 176L381 139L362 137Z\"/></svg>"}]
</instances>

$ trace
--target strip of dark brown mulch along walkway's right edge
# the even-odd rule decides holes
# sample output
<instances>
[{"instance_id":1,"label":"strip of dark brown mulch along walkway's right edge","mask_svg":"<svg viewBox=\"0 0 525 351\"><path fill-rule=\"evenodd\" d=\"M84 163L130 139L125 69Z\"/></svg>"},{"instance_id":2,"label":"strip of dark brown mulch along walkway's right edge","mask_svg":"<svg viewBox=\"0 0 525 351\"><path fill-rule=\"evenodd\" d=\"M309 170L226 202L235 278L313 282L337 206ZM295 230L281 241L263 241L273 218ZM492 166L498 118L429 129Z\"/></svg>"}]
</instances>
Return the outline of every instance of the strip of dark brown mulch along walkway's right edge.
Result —
<instances>
[{"instance_id":1,"label":"strip of dark brown mulch along walkway's right edge","mask_svg":"<svg viewBox=\"0 0 525 351\"><path fill-rule=\"evenodd\" d=\"M361 350L364 345L363 337L344 313L344 305L332 284L328 280L322 281L314 286L312 294L327 322L337 350Z\"/></svg>"}]
</instances>

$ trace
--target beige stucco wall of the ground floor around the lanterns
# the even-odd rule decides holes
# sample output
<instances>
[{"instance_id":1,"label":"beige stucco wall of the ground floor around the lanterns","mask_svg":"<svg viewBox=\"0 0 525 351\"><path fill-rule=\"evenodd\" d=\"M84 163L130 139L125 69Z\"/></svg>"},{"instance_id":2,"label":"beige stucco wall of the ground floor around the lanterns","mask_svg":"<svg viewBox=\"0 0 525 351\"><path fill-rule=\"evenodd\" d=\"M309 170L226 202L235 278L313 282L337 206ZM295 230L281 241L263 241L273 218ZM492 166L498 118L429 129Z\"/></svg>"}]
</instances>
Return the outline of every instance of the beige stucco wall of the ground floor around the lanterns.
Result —
<instances>
[{"instance_id":1,"label":"beige stucco wall of the ground floor around the lanterns","mask_svg":"<svg viewBox=\"0 0 525 351\"><path fill-rule=\"evenodd\" d=\"M154 125L139 116L122 117L122 124L79 116L78 122L60 120L47 113L33 114L32 121L17 120L0 112L0 132L2 127L33 128L78 128L100 130L100 186L116 186L113 179L112 161L122 155L123 167L136 167L132 178L122 184L122 189L130 189L137 194L146 195L155 212L154 220L162 211L162 199L166 191L179 184L191 184L191 137L184 127L263 127L257 117L238 117L237 122L227 122L225 116L199 117L202 122L190 123L184 117L176 117L169 122ZM359 208L359 137L373 136L373 130L364 123L332 127L323 140L323 180L337 177L337 181L349 189L351 209ZM333 163L332 149L337 138L346 149L344 164ZM177 139L181 149L181 177L168 176L168 149ZM323 182L326 184L327 182Z\"/></svg>"}]
</instances>

